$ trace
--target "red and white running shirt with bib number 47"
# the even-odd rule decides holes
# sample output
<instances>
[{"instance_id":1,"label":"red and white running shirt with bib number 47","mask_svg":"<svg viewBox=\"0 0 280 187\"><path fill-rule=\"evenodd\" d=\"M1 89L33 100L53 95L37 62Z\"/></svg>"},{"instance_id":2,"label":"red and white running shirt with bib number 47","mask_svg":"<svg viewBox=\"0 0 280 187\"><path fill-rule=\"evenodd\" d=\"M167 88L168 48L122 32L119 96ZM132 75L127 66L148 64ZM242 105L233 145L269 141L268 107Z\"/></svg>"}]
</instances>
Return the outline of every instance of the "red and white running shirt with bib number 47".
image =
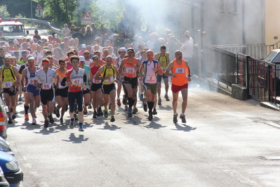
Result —
<instances>
[{"instance_id":1,"label":"red and white running shirt with bib number 47","mask_svg":"<svg viewBox=\"0 0 280 187\"><path fill-rule=\"evenodd\" d=\"M86 71L83 68L79 67L78 71L71 69L65 73L65 78L69 79L71 83L68 89L69 92L79 92L83 89L82 86L84 82L85 72Z\"/></svg>"}]
</instances>

